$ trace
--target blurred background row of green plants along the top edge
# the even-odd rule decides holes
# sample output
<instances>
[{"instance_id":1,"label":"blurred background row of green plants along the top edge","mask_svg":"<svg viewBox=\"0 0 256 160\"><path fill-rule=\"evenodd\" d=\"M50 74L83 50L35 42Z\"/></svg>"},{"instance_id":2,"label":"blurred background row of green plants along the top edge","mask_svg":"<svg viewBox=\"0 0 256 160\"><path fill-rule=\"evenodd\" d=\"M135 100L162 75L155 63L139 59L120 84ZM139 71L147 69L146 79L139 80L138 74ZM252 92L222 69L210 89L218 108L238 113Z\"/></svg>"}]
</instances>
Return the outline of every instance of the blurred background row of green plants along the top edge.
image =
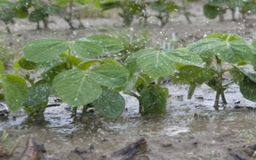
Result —
<instances>
[{"instance_id":1,"label":"blurred background row of green plants along the top edge","mask_svg":"<svg viewBox=\"0 0 256 160\"><path fill-rule=\"evenodd\" d=\"M83 28L81 19L86 16L98 15L104 17L105 10L118 9L118 15L122 17L124 26L130 26L134 17L140 19L141 24L147 24L148 17L156 17L160 25L164 26L170 19L170 14L179 12L191 23L191 13L188 12L188 4L199 0L182 0L179 4L173 1L124 1L124 0L17 0L0 1L0 20L6 24L6 29L10 33L8 24L14 23L14 18L28 18L31 22L36 22L37 29L40 29L40 22L44 28L48 27L50 15L60 15L67 22L71 29ZM93 8L93 9L92 9ZM256 3L253 0L209 0L204 4L204 15L209 19L220 17L224 20L227 10L232 12L232 19L235 20L235 13L242 13L246 19L246 13L256 13ZM148 12L148 9L154 12ZM92 11L92 12L90 12ZM74 25L74 20L78 20L79 25Z\"/></svg>"}]
</instances>

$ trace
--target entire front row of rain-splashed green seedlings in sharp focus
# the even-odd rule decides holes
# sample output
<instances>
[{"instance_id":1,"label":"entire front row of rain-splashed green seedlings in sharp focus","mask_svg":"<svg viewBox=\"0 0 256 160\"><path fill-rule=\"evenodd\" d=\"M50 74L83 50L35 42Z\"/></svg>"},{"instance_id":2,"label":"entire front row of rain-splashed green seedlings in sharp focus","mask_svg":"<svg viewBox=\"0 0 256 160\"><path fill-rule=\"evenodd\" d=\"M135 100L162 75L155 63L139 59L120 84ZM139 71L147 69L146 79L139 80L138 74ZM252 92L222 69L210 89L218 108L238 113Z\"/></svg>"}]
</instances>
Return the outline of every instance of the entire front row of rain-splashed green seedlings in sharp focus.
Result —
<instances>
[{"instance_id":1,"label":"entire front row of rain-splashed green seedlings in sharp focus","mask_svg":"<svg viewBox=\"0 0 256 160\"><path fill-rule=\"evenodd\" d=\"M186 48L141 49L121 64L97 58L124 50L111 36L72 41L41 38L24 46L24 56L13 63L12 73L5 73L0 63L0 97L11 111L22 108L29 116L42 116L51 96L73 106L74 111L78 106L90 106L115 119L125 109L123 92L138 99L141 114L161 114L169 95L161 83L164 77L171 77L173 82L189 84L188 99L196 86L210 86L216 91L214 108L218 111L220 99L225 108L225 90L232 83L239 85L244 98L256 100L256 74L241 67L256 67L255 44L236 34L217 33ZM223 81L226 72L230 81Z\"/></svg>"}]
</instances>

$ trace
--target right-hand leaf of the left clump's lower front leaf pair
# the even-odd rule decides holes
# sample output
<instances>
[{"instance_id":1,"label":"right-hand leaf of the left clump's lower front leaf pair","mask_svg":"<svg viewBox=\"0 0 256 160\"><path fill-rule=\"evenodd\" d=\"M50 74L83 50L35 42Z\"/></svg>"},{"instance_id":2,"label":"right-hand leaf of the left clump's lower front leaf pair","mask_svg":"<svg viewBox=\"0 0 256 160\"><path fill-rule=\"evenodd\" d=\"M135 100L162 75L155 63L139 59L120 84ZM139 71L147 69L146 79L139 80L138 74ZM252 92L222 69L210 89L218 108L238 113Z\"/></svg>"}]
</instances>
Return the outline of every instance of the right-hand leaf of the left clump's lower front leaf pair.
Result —
<instances>
[{"instance_id":1,"label":"right-hand leaf of the left clump's lower front leaf pair","mask_svg":"<svg viewBox=\"0 0 256 160\"><path fill-rule=\"evenodd\" d=\"M89 72L89 77L103 86L116 88L127 83L129 71L120 65L106 63L93 68Z\"/></svg>"}]
</instances>

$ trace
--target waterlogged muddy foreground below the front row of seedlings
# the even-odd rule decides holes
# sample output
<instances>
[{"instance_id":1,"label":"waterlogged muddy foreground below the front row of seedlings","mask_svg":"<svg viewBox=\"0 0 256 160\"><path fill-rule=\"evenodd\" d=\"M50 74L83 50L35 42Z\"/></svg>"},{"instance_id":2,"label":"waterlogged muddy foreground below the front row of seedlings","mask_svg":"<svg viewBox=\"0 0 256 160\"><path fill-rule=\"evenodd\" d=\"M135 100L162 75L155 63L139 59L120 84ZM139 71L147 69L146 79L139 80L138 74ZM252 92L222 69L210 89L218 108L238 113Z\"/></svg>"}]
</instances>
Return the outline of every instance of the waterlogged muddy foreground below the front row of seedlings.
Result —
<instances>
[{"instance_id":1,"label":"waterlogged muddy foreground below the front row of seedlings","mask_svg":"<svg viewBox=\"0 0 256 160\"><path fill-rule=\"evenodd\" d=\"M44 144L43 159L121 159L112 157L113 152L140 138L147 141L147 149L134 159L250 159L255 104L244 100L237 86L227 90L228 108L218 112L208 86L198 88L191 100L182 97L188 86L165 86L170 96L163 115L140 116L136 99L124 95L127 108L118 120L104 120L97 112L82 115L81 110L74 119L71 108L61 104L46 109L45 122L26 123L26 116L17 113L2 118L1 129L10 133L10 141L33 133ZM19 159L26 141L22 139L11 159Z\"/></svg>"}]
</instances>

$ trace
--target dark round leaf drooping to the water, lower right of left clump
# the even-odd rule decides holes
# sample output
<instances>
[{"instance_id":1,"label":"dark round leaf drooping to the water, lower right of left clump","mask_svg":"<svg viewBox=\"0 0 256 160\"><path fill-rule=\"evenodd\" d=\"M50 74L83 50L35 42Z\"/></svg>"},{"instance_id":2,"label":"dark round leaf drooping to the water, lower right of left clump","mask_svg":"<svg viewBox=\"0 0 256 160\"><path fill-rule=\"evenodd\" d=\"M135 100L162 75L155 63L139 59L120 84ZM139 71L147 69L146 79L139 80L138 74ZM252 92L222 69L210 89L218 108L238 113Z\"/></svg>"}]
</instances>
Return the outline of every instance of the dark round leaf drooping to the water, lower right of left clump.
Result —
<instances>
[{"instance_id":1,"label":"dark round leaf drooping to the water, lower right of left clump","mask_svg":"<svg viewBox=\"0 0 256 160\"><path fill-rule=\"evenodd\" d=\"M114 90L103 90L99 99L93 101L93 108L97 109L105 118L116 119L125 109L125 100Z\"/></svg>"}]
</instances>

